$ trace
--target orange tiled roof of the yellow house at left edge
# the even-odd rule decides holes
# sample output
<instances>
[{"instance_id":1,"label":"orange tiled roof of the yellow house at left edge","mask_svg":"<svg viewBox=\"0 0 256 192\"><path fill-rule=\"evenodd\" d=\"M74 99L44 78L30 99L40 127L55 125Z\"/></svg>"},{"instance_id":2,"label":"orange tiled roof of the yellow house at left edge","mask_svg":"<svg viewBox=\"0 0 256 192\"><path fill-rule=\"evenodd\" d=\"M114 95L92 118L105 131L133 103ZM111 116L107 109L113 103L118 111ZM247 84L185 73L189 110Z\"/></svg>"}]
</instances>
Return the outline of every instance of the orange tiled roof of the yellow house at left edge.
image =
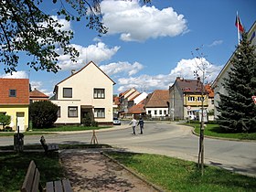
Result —
<instances>
[{"instance_id":1,"label":"orange tiled roof of the yellow house at left edge","mask_svg":"<svg viewBox=\"0 0 256 192\"><path fill-rule=\"evenodd\" d=\"M0 79L0 104L15 105L29 104L29 80L28 79ZM10 90L16 92L11 97Z\"/></svg>"}]
</instances>

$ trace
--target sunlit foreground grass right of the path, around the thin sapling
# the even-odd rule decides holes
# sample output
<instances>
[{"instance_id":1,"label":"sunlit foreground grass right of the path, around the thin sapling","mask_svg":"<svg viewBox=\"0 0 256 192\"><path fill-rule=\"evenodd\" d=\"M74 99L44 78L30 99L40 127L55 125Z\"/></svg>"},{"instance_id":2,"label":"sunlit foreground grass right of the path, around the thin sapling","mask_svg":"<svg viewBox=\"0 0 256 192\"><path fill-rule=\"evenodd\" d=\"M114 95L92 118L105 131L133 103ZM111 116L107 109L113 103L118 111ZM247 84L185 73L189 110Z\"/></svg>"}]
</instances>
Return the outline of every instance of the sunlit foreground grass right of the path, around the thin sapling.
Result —
<instances>
[{"instance_id":1,"label":"sunlit foreground grass right of the path, around the thin sapling","mask_svg":"<svg viewBox=\"0 0 256 192\"><path fill-rule=\"evenodd\" d=\"M167 191L255 191L256 178L233 174L227 170L206 166L204 176L197 164L164 155L108 153L132 168L148 181Z\"/></svg>"}]
</instances>

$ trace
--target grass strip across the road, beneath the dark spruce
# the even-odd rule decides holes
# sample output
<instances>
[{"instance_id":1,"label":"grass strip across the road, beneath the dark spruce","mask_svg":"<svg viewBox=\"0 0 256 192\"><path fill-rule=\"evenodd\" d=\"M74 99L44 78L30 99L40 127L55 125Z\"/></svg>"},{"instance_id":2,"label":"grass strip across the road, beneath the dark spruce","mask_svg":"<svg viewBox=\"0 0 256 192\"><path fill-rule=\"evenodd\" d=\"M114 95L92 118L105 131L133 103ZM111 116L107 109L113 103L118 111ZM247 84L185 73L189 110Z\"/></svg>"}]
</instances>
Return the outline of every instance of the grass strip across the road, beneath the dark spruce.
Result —
<instances>
[{"instance_id":1,"label":"grass strip across the road, beneath the dark spruce","mask_svg":"<svg viewBox=\"0 0 256 192\"><path fill-rule=\"evenodd\" d=\"M195 132L200 133L199 123L187 123L187 125L195 127ZM223 133L218 124L207 124L205 135L240 140L256 140L256 133Z\"/></svg>"}]
</instances>

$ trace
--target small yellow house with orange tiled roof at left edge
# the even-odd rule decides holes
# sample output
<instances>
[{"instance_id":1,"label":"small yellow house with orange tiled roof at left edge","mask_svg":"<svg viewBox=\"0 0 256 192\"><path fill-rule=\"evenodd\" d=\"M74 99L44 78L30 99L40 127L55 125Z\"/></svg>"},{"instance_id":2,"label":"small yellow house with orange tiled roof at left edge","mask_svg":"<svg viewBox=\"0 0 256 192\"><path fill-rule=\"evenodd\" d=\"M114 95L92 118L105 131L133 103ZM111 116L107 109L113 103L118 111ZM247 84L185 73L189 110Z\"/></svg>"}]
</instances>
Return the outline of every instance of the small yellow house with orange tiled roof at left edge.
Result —
<instances>
[{"instance_id":1,"label":"small yellow house with orange tiled roof at left edge","mask_svg":"<svg viewBox=\"0 0 256 192\"><path fill-rule=\"evenodd\" d=\"M29 80L0 79L0 113L11 116L13 130L25 132L28 127ZM1 125L0 125L1 128Z\"/></svg>"}]
</instances>

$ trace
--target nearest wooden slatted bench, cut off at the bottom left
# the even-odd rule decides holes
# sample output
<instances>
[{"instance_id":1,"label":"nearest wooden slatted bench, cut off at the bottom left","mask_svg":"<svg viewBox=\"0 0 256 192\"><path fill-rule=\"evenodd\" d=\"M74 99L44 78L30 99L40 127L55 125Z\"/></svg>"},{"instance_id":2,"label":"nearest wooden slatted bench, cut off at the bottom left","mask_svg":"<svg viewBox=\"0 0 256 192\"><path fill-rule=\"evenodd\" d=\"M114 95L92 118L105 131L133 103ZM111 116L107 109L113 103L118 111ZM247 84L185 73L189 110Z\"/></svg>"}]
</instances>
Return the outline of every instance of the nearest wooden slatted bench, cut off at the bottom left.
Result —
<instances>
[{"instance_id":1,"label":"nearest wooden slatted bench, cut off at the bottom left","mask_svg":"<svg viewBox=\"0 0 256 192\"><path fill-rule=\"evenodd\" d=\"M47 187L43 188L40 183L40 173L36 167L35 162L32 160L27 169L27 175L20 189L21 192L71 192L69 179L62 179L59 181L50 181Z\"/></svg>"}]
</instances>

